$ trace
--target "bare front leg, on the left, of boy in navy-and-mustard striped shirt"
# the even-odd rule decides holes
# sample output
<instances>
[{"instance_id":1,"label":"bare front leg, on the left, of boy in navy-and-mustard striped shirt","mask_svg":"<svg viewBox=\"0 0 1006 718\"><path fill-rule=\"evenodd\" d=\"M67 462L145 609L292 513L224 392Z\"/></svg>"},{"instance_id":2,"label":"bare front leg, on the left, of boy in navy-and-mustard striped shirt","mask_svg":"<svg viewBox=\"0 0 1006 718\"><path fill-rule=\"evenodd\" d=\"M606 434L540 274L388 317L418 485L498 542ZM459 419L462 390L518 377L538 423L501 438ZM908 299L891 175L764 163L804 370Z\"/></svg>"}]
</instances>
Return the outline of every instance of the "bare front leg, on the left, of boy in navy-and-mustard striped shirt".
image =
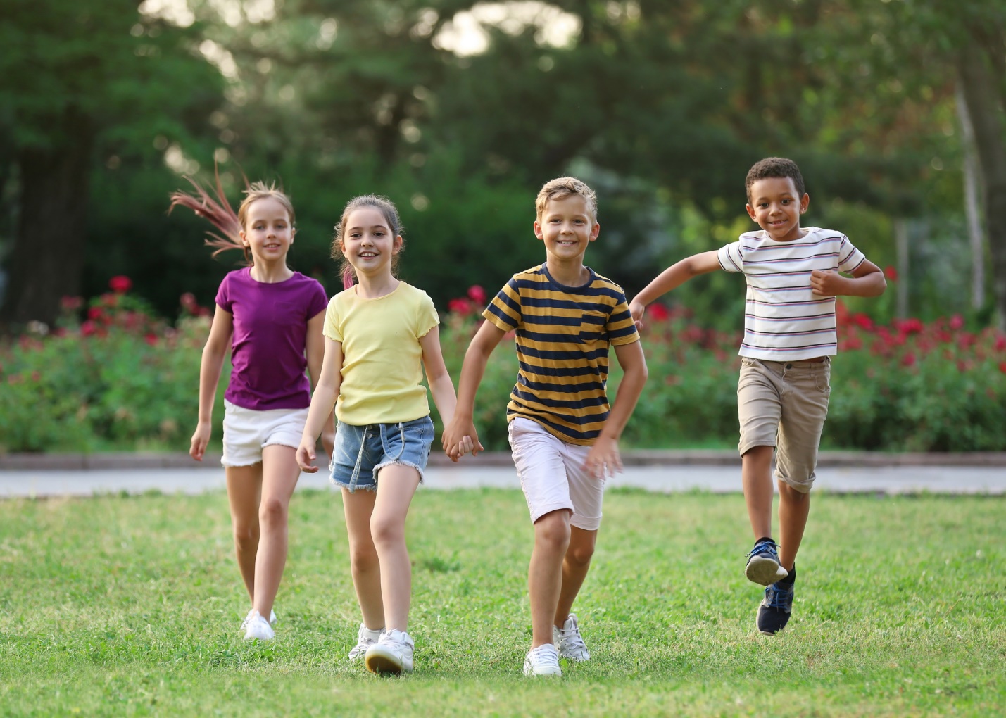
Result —
<instances>
[{"instance_id":1,"label":"bare front leg, on the left, of boy in navy-and-mustard striped shirt","mask_svg":"<svg viewBox=\"0 0 1006 718\"><path fill-rule=\"evenodd\" d=\"M552 643L552 621L562 591L563 558L569 547L569 515L568 509L560 509L534 522L534 548L527 570L531 649Z\"/></svg>"}]
</instances>

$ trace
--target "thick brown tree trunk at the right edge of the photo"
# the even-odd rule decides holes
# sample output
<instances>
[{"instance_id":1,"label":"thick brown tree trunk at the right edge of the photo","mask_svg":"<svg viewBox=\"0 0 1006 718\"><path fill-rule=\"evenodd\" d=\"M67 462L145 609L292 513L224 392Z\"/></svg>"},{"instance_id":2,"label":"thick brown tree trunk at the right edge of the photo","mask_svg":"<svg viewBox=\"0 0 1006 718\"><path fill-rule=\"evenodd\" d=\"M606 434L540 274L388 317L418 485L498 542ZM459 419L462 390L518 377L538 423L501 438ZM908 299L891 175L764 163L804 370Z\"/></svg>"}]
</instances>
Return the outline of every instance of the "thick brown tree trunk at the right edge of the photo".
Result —
<instances>
[{"instance_id":1,"label":"thick brown tree trunk at the right edge of the photo","mask_svg":"<svg viewBox=\"0 0 1006 718\"><path fill-rule=\"evenodd\" d=\"M980 47L962 48L958 56L961 88L975 131L985 189L985 226L992 254L992 286L999 328L1006 330L1006 142L999 93Z\"/></svg>"}]
</instances>

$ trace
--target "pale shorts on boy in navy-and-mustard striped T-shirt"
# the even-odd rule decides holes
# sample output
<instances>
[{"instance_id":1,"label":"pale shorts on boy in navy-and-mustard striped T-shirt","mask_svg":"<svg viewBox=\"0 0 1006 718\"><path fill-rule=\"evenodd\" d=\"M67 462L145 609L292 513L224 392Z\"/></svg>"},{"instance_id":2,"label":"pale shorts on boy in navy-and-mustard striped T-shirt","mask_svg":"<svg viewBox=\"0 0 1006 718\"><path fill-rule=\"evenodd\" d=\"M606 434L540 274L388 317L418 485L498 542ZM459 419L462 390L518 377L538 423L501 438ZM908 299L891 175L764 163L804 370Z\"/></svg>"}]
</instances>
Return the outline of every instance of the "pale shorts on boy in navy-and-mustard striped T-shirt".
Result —
<instances>
[{"instance_id":1,"label":"pale shorts on boy in navy-and-mustard striped T-shirt","mask_svg":"<svg viewBox=\"0 0 1006 718\"><path fill-rule=\"evenodd\" d=\"M595 479L583 469L591 447L566 443L537 421L519 416L510 421L507 434L531 523L552 511L568 509L570 525L597 531L605 480Z\"/></svg>"}]
</instances>

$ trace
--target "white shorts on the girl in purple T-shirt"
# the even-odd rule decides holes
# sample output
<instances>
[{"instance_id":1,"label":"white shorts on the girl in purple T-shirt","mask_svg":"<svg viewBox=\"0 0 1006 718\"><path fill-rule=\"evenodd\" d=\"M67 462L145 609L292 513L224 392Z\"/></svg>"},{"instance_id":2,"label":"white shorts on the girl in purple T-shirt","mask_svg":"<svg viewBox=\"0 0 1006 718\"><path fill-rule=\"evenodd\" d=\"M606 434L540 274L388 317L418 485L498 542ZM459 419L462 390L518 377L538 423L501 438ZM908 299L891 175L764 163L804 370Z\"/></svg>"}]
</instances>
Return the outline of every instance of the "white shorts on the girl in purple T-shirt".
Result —
<instances>
[{"instance_id":1,"label":"white shorts on the girl in purple T-shirt","mask_svg":"<svg viewBox=\"0 0 1006 718\"><path fill-rule=\"evenodd\" d=\"M223 400L223 457L225 467L250 467L262 461L262 450L273 444L301 445L307 409L257 411Z\"/></svg>"}]
</instances>

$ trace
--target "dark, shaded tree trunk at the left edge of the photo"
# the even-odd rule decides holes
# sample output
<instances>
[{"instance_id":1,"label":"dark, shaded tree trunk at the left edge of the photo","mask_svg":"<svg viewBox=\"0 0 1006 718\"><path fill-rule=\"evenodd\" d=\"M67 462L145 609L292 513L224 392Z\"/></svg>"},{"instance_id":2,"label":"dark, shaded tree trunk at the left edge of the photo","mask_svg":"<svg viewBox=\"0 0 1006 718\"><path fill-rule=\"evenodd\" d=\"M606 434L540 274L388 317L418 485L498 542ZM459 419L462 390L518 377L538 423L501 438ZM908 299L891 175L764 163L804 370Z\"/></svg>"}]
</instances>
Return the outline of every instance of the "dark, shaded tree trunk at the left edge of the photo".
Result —
<instances>
[{"instance_id":1,"label":"dark, shaded tree trunk at the left edge of the photo","mask_svg":"<svg viewBox=\"0 0 1006 718\"><path fill-rule=\"evenodd\" d=\"M72 111L62 126L65 145L17 154L20 217L0 309L7 326L32 320L51 325L60 298L80 293L94 136L87 120Z\"/></svg>"}]
</instances>

